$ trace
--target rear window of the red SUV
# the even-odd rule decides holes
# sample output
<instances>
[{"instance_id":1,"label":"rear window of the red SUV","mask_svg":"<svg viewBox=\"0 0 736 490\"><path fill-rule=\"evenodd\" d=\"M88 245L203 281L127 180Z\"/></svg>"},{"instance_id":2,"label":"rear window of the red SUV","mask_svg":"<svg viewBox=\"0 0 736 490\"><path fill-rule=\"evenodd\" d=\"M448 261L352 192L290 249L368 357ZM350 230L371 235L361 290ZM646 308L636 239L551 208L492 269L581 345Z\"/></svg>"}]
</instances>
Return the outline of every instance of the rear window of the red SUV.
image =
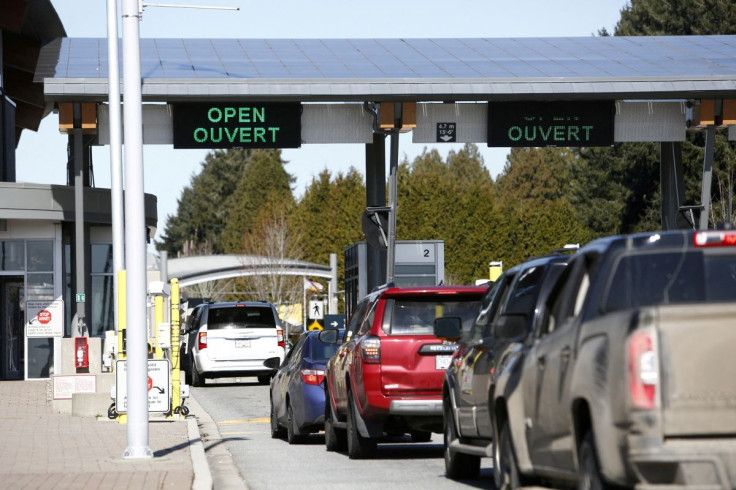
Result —
<instances>
[{"instance_id":1,"label":"rear window of the red SUV","mask_svg":"<svg viewBox=\"0 0 736 490\"><path fill-rule=\"evenodd\" d=\"M436 298L395 299L387 304L383 330L392 335L434 335L434 320L443 316L460 317L467 331L480 310L480 297L460 301Z\"/></svg>"}]
</instances>

